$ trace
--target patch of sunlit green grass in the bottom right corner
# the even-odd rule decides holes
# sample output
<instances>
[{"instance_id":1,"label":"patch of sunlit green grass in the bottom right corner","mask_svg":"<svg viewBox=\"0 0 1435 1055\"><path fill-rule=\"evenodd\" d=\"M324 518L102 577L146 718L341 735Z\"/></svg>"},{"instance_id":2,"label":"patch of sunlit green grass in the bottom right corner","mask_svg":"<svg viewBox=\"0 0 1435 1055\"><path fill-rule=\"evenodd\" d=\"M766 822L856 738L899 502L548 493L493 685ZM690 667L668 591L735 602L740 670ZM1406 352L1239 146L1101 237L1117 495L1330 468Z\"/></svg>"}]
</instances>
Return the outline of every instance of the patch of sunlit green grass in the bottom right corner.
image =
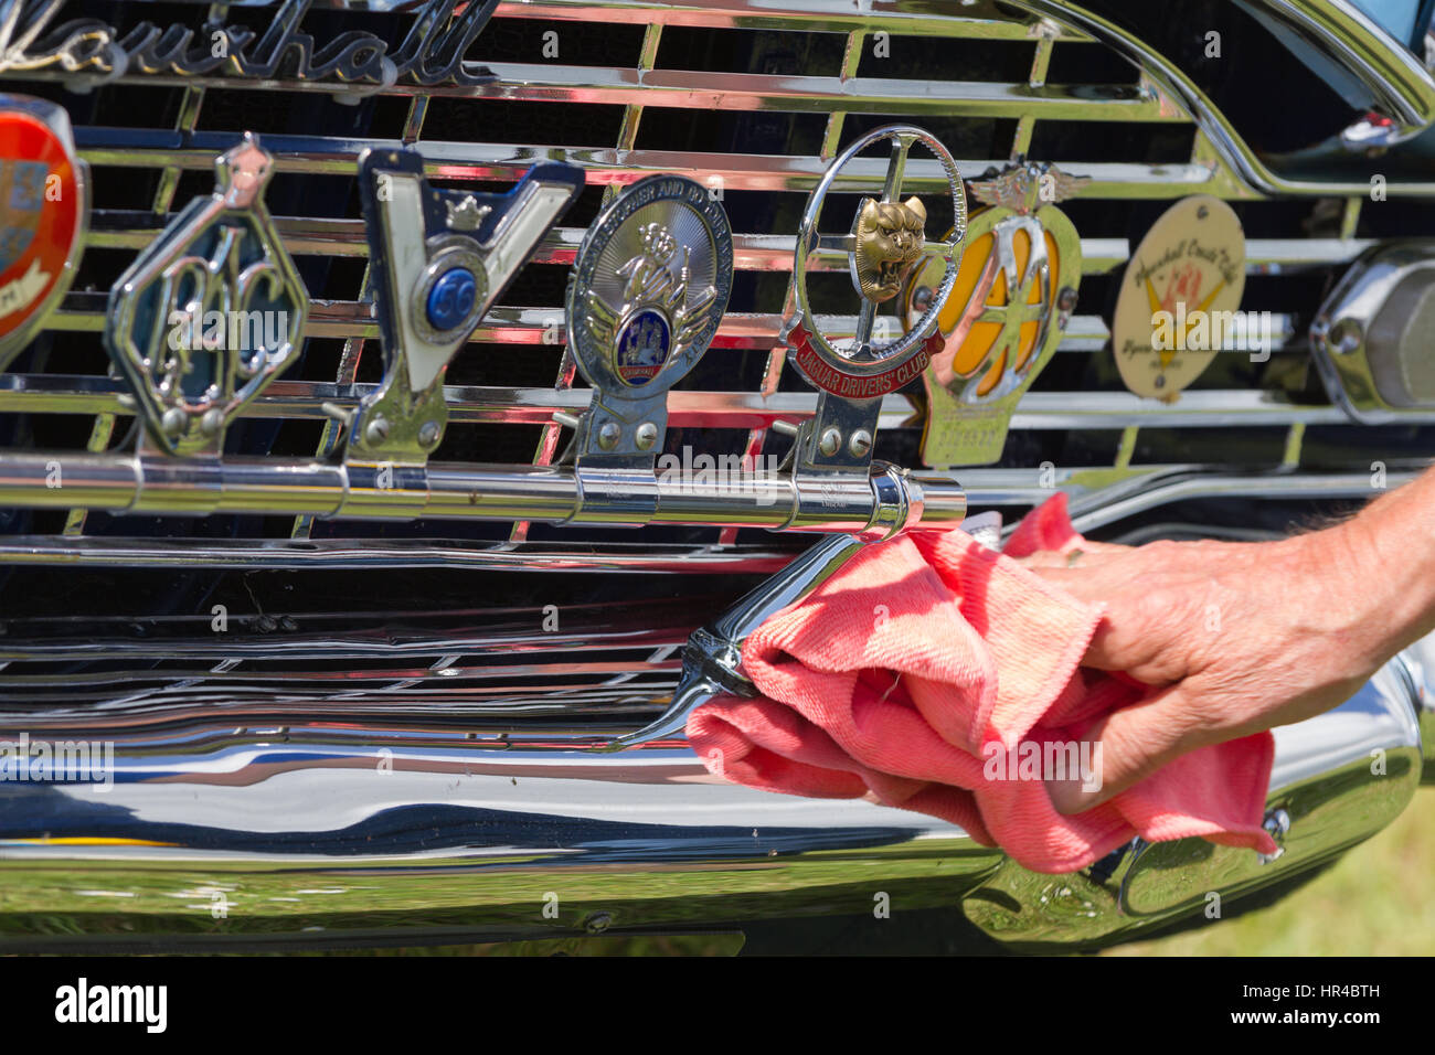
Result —
<instances>
[{"instance_id":1,"label":"patch of sunlit green grass in the bottom right corner","mask_svg":"<svg viewBox=\"0 0 1435 1055\"><path fill-rule=\"evenodd\" d=\"M1104 956L1435 953L1435 787L1329 871L1269 909Z\"/></svg>"}]
</instances>

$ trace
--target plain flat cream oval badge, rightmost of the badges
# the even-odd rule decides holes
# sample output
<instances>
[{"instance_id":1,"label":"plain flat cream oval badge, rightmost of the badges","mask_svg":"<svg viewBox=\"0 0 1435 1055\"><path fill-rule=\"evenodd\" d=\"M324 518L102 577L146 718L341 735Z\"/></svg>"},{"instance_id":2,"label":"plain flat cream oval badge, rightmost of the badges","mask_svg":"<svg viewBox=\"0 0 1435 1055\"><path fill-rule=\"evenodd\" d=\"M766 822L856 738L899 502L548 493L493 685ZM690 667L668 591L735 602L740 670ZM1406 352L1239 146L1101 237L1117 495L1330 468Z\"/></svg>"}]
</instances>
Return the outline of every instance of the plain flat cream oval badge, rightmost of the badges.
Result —
<instances>
[{"instance_id":1,"label":"plain flat cream oval badge, rightmost of the badges","mask_svg":"<svg viewBox=\"0 0 1435 1055\"><path fill-rule=\"evenodd\" d=\"M1175 402L1221 350L1246 290L1246 233L1220 198L1178 201L1131 254L1111 346L1126 388Z\"/></svg>"}]
</instances>

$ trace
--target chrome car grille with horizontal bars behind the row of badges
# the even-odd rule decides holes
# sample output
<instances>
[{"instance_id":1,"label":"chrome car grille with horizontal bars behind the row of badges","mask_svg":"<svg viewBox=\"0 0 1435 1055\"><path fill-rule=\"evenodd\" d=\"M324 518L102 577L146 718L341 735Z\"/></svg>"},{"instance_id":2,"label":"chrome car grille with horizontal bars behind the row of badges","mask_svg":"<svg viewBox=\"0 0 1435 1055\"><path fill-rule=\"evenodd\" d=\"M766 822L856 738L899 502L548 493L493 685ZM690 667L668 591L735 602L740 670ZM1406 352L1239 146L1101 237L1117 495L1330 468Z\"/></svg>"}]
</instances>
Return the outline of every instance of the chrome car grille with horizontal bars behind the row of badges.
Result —
<instances>
[{"instance_id":1,"label":"chrome car grille with horizontal bars behind the row of badges","mask_svg":"<svg viewBox=\"0 0 1435 1055\"><path fill-rule=\"evenodd\" d=\"M1025 396L1002 464L954 474L973 510L1016 515L1063 487L1092 531L1190 520L1192 504L1230 530L1269 527L1368 494L1375 464L1396 479L1435 449L1419 423L1350 423L1309 360L1304 332L1323 293L1372 244L1359 237L1372 225L1362 198L1248 189L1142 70L1020 6L838 7L501 3L468 53L497 75L482 86L373 93L288 76L131 72L76 95L59 73L6 73L4 90L67 106L95 202L73 290L0 375L0 448L93 452L131 441L123 385L99 340L106 293L185 201L208 192L215 155L255 131L277 158L268 202L313 303L303 360L231 429L231 454L327 456L337 426L323 405L354 406L377 383L353 175L363 148L396 142L420 149L439 181L498 188L538 159L574 162L588 179L451 367L451 426L435 462L558 455L554 412L588 398L564 355L567 268L601 204L650 172L720 192L736 243L729 311L673 395L667 449L781 454L789 441L768 435L772 422L815 406L771 359L804 198L842 144L910 118L946 142L966 178L1012 155L1091 178L1063 205L1082 233L1081 306ZM211 10L237 23L268 17L264 6ZM201 22L192 4L70 11L118 27ZM316 4L304 24L316 37L360 27L400 39L412 17ZM881 178L872 164L839 189L878 191ZM908 178L936 188L940 171L914 161ZM1237 205L1248 238L1244 307L1274 313L1277 346L1263 365L1220 356L1180 402L1152 403L1122 389L1105 319L1131 245L1167 204L1195 192ZM1412 208L1385 202L1380 233L1402 227L1401 210L1418 222ZM838 334L855 326L851 316L825 322ZM911 400L885 398L877 455L916 465L918 435ZM1256 498L1281 501L1267 514ZM689 629L802 544L733 528L0 511L0 695L55 725L95 706L149 716L208 708L278 725L354 712L494 728L623 723L663 706Z\"/></svg>"}]
</instances>

